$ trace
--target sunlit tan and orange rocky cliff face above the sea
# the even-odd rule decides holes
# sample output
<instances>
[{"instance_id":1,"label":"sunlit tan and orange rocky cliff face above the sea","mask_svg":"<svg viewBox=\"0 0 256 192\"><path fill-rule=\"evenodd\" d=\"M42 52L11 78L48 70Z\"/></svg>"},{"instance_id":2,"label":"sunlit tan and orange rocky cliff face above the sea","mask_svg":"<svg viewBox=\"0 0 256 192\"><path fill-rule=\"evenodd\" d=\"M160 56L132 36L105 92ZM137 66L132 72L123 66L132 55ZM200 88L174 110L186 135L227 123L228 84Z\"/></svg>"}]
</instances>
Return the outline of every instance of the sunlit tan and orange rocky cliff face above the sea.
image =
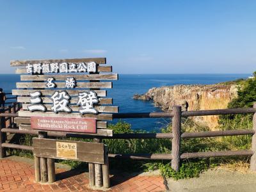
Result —
<instances>
[{"instance_id":1,"label":"sunlit tan and orange rocky cliff face above the sea","mask_svg":"<svg viewBox=\"0 0 256 192\"><path fill-rule=\"evenodd\" d=\"M234 84L164 86L151 88L143 95L134 95L134 99L154 100L163 111L171 111L174 105L182 106L183 111L225 109L235 97L237 86ZM218 116L196 116L193 120L211 129L218 125Z\"/></svg>"}]
</instances>

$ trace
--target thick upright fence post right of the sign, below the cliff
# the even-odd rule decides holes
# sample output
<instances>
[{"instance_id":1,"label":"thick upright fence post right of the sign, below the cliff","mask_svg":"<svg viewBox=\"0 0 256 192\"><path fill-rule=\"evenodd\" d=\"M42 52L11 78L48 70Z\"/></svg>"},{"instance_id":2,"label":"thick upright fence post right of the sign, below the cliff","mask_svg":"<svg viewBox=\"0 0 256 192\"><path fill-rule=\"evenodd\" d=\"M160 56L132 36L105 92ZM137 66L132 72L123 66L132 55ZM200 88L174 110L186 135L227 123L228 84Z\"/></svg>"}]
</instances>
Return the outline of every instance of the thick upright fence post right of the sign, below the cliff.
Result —
<instances>
[{"instance_id":1,"label":"thick upright fence post right of the sign, below the cliff","mask_svg":"<svg viewBox=\"0 0 256 192\"><path fill-rule=\"evenodd\" d=\"M181 107L173 106L172 118L172 168L177 172L180 164Z\"/></svg>"}]
</instances>

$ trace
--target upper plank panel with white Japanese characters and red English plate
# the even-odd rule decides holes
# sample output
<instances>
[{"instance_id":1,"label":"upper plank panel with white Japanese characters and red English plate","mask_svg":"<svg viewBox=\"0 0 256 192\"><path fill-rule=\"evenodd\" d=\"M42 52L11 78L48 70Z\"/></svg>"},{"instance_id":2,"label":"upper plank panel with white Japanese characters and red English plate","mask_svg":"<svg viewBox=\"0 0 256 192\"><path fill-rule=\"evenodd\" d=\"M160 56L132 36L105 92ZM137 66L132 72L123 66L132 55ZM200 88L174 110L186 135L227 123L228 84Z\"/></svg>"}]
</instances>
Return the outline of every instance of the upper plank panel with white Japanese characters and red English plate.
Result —
<instances>
[{"instance_id":1,"label":"upper plank panel with white Japanese characters and red English plate","mask_svg":"<svg viewBox=\"0 0 256 192\"><path fill-rule=\"evenodd\" d=\"M12 90L22 103L15 118L19 129L112 136L106 121L118 107L105 89L118 74L105 64L106 58L11 61L21 74Z\"/></svg>"}]
</instances>

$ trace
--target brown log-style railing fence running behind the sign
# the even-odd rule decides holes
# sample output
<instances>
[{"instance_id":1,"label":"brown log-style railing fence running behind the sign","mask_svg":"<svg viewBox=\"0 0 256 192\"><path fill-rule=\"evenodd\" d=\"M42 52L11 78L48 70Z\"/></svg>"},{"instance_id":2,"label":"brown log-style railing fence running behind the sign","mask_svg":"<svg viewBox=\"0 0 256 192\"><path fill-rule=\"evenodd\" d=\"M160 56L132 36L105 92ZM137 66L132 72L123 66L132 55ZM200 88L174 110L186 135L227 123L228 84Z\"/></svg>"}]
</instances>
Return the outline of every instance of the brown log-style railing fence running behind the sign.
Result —
<instances>
[{"instance_id":1,"label":"brown log-style railing fence running behind the sign","mask_svg":"<svg viewBox=\"0 0 256 192\"><path fill-rule=\"evenodd\" d=\"M13 111L14 112L14 111ZM206 131L206 132L181 132L181 118L189 116L205 116L205 115L232 115L253 113L253 129L227 130L227 131ZM18 116L17 113L0 113L1 122L6 117ZM250 168L256 171L256 104L253 108L236 108L236 109L216 109L216 110L201 110L201 111L181 111L180 106L174 106L172 113L157 112L157 113L116 113L113 118L172 118L172 132L168 133L129 133L129 134L113 134L109 136L88 136L83 134L66 134L65 132L48 132L48 136L55 137L74 137L74 138L97 138L97 139L170 139L172 140L172 154L108 154L113 158L124 159L169 159L172 161L173 170L179 170L180 159L199 158L199 157L224 157L224 156L252 156ZM4 127L1 123L0 132L0 157L4 157L5 148L18 148L24 150L33 150L31 146L17 145L6 143L6 132L18 134L33 134L38 135L36 130L19 130L16 127ZM243 128L243 127L242 127ZM193 152L182 153L180 151L180 140L184 138L207 138L216 136L239 136L252 135L251 150L237 151L218 151L218 152Z\"/></svg>"}]
</instances>

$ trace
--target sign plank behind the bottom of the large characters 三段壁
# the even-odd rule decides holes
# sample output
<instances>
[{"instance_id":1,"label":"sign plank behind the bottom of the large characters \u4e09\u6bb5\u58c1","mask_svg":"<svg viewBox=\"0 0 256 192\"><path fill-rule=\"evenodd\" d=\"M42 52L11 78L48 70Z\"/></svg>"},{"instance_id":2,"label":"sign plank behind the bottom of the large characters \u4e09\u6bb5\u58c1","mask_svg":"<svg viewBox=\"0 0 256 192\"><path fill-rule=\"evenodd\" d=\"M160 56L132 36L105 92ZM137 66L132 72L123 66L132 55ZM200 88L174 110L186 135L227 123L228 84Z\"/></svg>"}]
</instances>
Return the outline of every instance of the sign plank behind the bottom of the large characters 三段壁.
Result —
<instances>
[{"instance_id":1,"label":"sign plank behind the bottom of the large characters \u4e09\u6bb5\u58c1","mask_svg":"<svg viewBox=\"0 0 256 192\"><path fill-rule=\"evenodd\" d=\"M28 106L30 104L22 104L22 109L23 110L28 110ZM52 105L51 104L44 104L46 107L47 111L51 111ZM77 112L79 111L80 106L76 105L70 105L69 106L72 109L72 112ZM118 107L116 106L94 106L97 111L100 113L118 113Z\"/></svg>"}]
</instances>

